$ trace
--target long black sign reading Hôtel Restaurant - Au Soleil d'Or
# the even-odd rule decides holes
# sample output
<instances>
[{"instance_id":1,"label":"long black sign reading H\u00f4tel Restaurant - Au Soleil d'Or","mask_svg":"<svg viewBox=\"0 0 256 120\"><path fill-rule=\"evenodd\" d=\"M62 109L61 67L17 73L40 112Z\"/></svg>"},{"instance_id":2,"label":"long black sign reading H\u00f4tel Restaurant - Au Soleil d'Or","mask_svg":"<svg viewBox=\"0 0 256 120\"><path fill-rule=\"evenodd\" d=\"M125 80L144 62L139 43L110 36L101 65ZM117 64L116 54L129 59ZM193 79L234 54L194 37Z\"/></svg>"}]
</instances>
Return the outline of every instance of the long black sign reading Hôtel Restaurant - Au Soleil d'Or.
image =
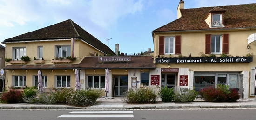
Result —
<instances>
[{"instance_id":1,"label":"long black sign reading H\u00f4tel Restaurant - Au Soleil d'Or","mask_svg":"<svg viewBox=\"0 0 256 120\"><path fill-rule=\"evenodd\" d=\"M249 63L252 57L183 57L157 58L156 63Z\"/></svg>"}]
</instances>

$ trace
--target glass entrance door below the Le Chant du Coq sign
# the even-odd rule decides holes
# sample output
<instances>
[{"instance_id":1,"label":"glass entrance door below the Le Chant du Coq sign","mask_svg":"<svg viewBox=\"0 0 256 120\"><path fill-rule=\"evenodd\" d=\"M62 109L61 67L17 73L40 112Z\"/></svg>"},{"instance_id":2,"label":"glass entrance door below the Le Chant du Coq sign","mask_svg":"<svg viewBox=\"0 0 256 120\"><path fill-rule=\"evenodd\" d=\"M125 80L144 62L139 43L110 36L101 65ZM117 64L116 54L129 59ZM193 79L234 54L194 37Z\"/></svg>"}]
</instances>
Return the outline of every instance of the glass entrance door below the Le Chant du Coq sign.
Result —
<instances>
[{"instance_id":1,"label":"glass entrance door below the Le Chant du Coq sign","mask_svg":"<svg viewBox=\"0 0 256 120\"><path fill-rule=\"evenodd\" d=\"M115 76L115 96L126 96L128 87L127 76Z\"/></svg>"}]
</instances>

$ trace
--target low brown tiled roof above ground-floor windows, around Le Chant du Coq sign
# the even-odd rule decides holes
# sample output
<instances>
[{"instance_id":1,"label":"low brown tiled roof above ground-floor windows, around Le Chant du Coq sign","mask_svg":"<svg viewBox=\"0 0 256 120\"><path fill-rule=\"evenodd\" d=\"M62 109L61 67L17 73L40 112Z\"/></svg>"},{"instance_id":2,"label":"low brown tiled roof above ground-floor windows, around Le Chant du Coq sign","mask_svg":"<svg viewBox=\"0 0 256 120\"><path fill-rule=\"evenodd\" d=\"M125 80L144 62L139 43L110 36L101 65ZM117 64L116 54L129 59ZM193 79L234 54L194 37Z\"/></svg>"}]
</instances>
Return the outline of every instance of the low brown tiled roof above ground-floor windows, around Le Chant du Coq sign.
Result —
<instances>
[{"instance_id":1,"label":"low brown tiled roof above ground-floor windows, around Le Chant du Coq sign","mask_svg":"<svg viewBox=\"0 0 256 120\"><path fill-rule=\"evenodd\" d=\"M155 69L153 56L131 56L128 63L100 63L98 56L84 57L79 64L7 65L4 69Z\"/></svg>"}]
</instances>

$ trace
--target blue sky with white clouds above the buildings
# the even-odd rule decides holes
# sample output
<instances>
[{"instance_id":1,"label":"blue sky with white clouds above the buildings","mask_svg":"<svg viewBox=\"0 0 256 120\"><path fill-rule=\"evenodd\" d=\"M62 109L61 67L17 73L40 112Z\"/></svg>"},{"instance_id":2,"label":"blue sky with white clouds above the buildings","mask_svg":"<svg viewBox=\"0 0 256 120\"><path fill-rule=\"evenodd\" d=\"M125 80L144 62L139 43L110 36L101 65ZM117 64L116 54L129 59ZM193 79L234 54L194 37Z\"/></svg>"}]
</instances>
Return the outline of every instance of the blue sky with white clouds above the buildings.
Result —
<instances>
[{"instance_id":1,"label":"blue sky with white clouds above the buildings","mask_svg":"<svg viewBox=\"0 0 256 120\"><path fill-rule=\"evenodd\" d=\"M0 0L0 41L67 19L115 52L153 50L152 31L177 18L180 0ZM256 0L183 0L185 8L256 3ZM107 39L112 38L107 41ZM4 44L3 44L4 45Z\"/></svg>"}]
</instances>

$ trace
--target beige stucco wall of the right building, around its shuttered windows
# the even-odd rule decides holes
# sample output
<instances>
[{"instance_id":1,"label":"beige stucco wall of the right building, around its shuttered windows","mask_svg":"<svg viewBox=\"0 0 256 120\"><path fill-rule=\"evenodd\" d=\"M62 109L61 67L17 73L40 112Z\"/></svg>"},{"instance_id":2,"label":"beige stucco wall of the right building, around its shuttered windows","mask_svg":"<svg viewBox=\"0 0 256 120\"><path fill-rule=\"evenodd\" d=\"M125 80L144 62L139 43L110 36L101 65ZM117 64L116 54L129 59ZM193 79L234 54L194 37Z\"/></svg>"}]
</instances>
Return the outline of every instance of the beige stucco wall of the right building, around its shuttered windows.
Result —
<instances>
[{"instance_id":1,"label":"beige stucco wall of the right building, around its shuttered windows","mask_svg":"<svg viewBox=\"0 0 256 120\"><path fill-rule=\"evenodd\" d=\"M205 35L222 35L229 34L229 53L231 57L244 57L248 53L256 53L256 43L247 44L247 37L256 33L256 29L246 30L211 30L211 31L187 31L187 32L164 32L154 33L154 57L158 58L172 58L178 55L159 55L159 36L175 37L181 36L181 54L182 56L200 57L201 53L205 53ZM222 37L223 40L223 37ZM222 43L221 43L222 44ZM247 45L250 46L247 49ZM222 45L221 45L222 47ZM208 55L208 54L206 54ZM216 54L220 57L220 54ZM243 75L243 88L245 88L245 97L253 96L254 94L254 80L250 78L252 72L251 67L256 66L256 58L253 56L253 61L250 63L157 63L157 68L179 68L185 69L184 74L189 76L188 86L180 87L179 79L176 80L176 88L193 88L195 73L238 73ZM186 70L187 69L187 70ZM180 72L180 71L179 71ZM179 76L180 73L175 73ZM192 84L192 85L191 85Z\"/></svg>"}]
</instances>

